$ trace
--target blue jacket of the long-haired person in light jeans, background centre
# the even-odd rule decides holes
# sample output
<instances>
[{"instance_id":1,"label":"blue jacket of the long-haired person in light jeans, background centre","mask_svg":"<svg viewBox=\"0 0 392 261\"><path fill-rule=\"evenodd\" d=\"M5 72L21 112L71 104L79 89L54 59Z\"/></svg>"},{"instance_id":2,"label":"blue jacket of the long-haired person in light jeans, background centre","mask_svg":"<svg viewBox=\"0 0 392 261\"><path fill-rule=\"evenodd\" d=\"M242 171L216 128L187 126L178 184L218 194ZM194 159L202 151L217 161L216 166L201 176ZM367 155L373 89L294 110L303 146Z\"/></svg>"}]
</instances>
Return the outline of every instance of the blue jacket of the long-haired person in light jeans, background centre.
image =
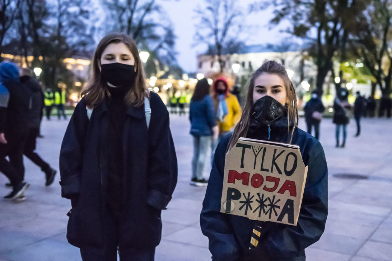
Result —
<instances>
[{"instance_id":1,"label":"blue jacket of the long-haired person in light jeans, background centre","mask_svg":"<svg viewBox=\"0 0 392 261\"><path fill-rule=\"evenodd\" d=\"M214 102L210 95L205 95L200 101L191 99L189 105L191 134L194 136L211 136L211 128L216 125L215 115Z\"/></svg>"}]
</instances>

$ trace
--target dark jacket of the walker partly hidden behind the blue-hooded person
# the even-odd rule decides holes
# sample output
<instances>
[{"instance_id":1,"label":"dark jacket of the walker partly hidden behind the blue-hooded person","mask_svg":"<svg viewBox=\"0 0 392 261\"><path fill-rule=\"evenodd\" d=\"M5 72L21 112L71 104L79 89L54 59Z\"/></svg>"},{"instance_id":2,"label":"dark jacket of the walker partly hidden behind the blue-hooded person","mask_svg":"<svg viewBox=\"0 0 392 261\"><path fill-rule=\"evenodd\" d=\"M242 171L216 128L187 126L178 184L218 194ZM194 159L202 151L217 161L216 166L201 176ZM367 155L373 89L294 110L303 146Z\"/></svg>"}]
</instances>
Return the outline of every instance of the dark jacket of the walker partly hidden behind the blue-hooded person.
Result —
<instances>
[{"instance_id":1,"label":"dark jacket of the walker partly hidden behind the blue-hooded person","mask_svg":"<svg viewBox=\"0 0 392 261\"><path fill-rule=\"evenodd\" d=\"M20 77L20 82L31 91L31 109L29 110L29 128L39 128L44 108L44 93L41 85L30 76Z\"/></svg>"}]
</instances>

